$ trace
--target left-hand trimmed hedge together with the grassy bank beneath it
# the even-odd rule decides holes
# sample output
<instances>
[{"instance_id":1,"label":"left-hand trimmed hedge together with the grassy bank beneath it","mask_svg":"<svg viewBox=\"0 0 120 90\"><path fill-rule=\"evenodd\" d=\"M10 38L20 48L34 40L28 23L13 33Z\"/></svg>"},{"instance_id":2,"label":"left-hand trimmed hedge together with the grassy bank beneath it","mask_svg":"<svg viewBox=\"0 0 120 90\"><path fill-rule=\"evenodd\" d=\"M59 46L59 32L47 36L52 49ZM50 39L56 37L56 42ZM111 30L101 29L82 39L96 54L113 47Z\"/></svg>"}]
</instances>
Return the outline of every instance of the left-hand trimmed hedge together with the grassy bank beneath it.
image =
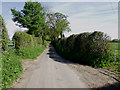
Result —
<instances>
[{"instance_id":1,"label":"left-hand trimmed hedge together with the grassy bank beneath it","mask_svg":"<svg viewBox=\"0 0 120 90\"><path fill-rule=\"evenodd\" d=\"M21 31L14 34L13 41L15 42L16 54L23 59L36 58L46 47L45 44L42 45L40 37L34 37Z\"/></svg>"}]
</instances>

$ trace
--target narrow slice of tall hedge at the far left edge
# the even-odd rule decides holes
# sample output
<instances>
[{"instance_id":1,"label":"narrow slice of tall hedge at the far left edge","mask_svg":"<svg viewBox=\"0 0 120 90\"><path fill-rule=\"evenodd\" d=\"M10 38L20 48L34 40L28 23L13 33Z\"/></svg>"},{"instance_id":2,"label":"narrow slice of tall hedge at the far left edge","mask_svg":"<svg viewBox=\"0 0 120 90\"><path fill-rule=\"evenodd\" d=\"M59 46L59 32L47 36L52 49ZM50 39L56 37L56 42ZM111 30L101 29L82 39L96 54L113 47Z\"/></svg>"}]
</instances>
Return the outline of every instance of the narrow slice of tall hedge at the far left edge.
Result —
<instances>
[{"instance_id":1,"label":"narrow slice of tall hedge at the far left edge","mask_svg":"<svg viewBox=\"0 0 120 90\"><path fill-rule=\"evenodd\" d=\"M8 50L8 32L4 24L4 20L2 16L0 15L0 29L2 32L2 50L7 51Z\"/></svg>"}]
</instances>

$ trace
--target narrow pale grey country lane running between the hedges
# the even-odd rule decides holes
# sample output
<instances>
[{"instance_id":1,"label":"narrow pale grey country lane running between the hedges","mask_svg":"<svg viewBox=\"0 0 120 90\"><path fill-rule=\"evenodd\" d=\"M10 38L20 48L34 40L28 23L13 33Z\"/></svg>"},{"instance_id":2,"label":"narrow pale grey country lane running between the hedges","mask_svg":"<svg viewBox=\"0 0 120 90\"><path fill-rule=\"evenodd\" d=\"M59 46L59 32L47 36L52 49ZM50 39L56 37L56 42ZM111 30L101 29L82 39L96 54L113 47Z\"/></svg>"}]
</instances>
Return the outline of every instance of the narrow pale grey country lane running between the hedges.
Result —
<instances>
[{"instance_id":1,"label":"narrow pale grey country lane running between the hedges","mask_svg":"<svg viewBox=\"0 0 120 90\"><path fill-rule=\"evenodd\" d=\"M49 45L13 88L87 88L67 63Z\"/></svg>"}]
</instances>

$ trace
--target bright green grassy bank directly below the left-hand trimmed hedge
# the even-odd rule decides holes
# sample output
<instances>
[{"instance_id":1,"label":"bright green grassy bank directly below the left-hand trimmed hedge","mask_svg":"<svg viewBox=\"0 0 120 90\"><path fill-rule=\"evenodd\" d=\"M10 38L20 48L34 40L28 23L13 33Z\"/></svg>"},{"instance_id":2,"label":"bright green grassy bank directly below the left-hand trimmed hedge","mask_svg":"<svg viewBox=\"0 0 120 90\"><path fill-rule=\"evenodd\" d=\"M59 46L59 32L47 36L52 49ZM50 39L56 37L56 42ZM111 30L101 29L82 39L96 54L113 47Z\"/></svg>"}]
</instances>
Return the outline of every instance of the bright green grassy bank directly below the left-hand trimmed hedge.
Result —
<instances>
[{"instance_id":1,"label":"bright green grassy bank directly below the left-hand trimmed hedge","mask_svg":"<svg viewBox=\"0 0 120 90\"><path fill-rule=\"evenodd\" d=\"M31 48L23 48L16 50L16 54L22 59L35 59L45 50L45 45L39 45ZM34 53L33 53L34 52Z\"/></svg>"}]
</instances>

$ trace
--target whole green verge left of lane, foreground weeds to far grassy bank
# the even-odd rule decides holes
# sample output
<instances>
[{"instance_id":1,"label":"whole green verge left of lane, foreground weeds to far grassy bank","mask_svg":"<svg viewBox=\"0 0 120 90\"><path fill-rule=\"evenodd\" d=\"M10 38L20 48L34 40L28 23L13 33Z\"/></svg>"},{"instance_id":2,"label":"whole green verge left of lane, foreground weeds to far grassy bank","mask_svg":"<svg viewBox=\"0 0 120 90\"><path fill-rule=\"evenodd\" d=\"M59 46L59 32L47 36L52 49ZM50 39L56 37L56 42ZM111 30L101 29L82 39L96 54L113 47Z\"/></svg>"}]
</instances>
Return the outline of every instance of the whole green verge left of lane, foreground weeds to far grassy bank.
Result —
<instances>
[{"instance_id":1,"label":"whole green verge left of lane, foreground weeds to far grassy bank","mask_svg":"<svg viewBox=\"0 0 120 90\"><path fill-rule=\"evenodd\" d=\"M20 50L9 48L8 52L2 54L2 87L8 88L22 74L21 59L35 59L44 50L45 45L39 45Z\"/></svg>"}]
</instances>

